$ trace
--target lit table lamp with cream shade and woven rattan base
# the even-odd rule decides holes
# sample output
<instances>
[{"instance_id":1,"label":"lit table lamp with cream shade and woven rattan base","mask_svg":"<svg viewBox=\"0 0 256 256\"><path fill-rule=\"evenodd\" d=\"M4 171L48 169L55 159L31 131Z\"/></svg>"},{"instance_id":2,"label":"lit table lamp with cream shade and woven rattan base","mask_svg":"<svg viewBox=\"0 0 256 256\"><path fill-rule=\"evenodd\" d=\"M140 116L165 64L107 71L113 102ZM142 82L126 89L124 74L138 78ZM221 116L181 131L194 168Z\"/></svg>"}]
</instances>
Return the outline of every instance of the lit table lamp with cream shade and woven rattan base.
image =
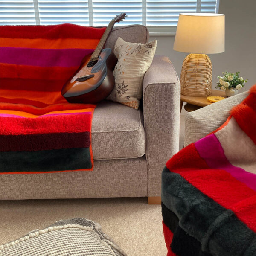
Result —
<instances>
[{"instance_id":1,"label":"lit table lamp with cream shade and woven rattan base","mask_svg":"<svg viewBox=\"0 0 256 256\"><path fill-rule=\"evenodd\" d=\"M180 13L173 49L190 53L180 73L181 94L211 94L212 63L206 54L224 52L224 37L224 14Z\"/></svg>"}]
</instances>

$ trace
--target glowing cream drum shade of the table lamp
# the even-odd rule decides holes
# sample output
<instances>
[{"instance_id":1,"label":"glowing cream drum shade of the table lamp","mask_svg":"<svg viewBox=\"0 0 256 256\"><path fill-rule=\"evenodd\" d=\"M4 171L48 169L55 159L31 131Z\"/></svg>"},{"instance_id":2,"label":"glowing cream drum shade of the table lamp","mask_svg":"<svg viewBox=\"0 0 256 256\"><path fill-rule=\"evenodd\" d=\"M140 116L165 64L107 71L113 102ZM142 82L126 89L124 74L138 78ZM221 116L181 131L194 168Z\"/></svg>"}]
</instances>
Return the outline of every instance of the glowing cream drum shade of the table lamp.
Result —
<instances>
[{"instance_id":1,"label":"glowing cream drum shade of the table lamp","mask_svg":"<svg viewBox=\"0 0 256 256\"><path fill-rule=\"evenodd\" d=\"M173 49L189 53L225 51L225 15L180 13Z\"/></svg>"}]
</instances>

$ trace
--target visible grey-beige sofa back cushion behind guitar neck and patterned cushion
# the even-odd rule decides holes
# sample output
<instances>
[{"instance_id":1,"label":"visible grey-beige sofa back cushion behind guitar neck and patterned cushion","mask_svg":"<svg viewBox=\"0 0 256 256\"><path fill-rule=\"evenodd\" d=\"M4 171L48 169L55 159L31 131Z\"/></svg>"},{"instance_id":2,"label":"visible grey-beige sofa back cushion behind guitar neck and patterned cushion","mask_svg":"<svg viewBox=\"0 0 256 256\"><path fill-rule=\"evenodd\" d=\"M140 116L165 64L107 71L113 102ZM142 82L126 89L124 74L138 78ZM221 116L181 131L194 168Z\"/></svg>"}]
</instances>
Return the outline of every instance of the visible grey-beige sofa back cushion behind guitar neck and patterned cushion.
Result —
<instances>
[{"instance_id":1,"label":"visible grey-beige sofa back cushion behind guitar neck and patterned cushion","mask_svg":"<svg viewBox=\"0 0 256 256\"><path fill-rule=\"evenodd\" d=\"M105 48L113 50L119 37L126 42L145 44L148 43L149 32L146 26L138 24L114 27L106 41Z\"/></svg>"}]
</instances>

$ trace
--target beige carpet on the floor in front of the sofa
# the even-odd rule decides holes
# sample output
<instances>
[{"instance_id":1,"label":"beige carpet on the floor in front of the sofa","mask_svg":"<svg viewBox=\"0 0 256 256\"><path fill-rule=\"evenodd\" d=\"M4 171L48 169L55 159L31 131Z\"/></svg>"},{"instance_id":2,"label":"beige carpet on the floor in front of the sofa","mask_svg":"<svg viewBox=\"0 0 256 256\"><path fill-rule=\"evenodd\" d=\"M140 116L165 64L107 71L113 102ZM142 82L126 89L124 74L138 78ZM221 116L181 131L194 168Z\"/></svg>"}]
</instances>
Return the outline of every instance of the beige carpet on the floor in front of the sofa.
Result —
<instances>
[{"instance_id":1,"label":"beige carpet on the floor in front of the sofa","mask_svg":"<svg viewBox=\"0 0 256 256\"><path fill-rule=\"evenodd\" d=\"M0 201L0 244L68 218L99 222L128 256L166 256L161 206L147 198Z\"/></svg>"}]
</instances>

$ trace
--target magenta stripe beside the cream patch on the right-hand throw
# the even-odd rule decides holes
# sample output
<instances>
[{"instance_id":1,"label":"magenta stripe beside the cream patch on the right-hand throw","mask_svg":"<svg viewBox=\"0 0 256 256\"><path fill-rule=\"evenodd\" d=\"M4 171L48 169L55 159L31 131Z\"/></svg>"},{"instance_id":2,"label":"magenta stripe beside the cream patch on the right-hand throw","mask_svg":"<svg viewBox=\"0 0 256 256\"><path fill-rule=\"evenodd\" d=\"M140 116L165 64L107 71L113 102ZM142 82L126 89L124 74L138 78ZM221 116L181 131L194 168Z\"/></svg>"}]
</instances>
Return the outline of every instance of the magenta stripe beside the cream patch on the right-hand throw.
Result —
<instances>
[{"instance_id":1,"label":"magenta stripe beside the cream patch on the right-hand throw","mask_svg":"<svg viewBox=\"0 0 256 256\"><path fill-rule=\"evenodd\" d=\"M202 157L207 165L212 169L222 169L230 173L237 180L245 183L248 187L256 191L256 175L246 172L240 167L233 166L224 154L221 143L215 134L208 135L201 140L195 142L200 157Z\"/></svg>"}]
</instances>

